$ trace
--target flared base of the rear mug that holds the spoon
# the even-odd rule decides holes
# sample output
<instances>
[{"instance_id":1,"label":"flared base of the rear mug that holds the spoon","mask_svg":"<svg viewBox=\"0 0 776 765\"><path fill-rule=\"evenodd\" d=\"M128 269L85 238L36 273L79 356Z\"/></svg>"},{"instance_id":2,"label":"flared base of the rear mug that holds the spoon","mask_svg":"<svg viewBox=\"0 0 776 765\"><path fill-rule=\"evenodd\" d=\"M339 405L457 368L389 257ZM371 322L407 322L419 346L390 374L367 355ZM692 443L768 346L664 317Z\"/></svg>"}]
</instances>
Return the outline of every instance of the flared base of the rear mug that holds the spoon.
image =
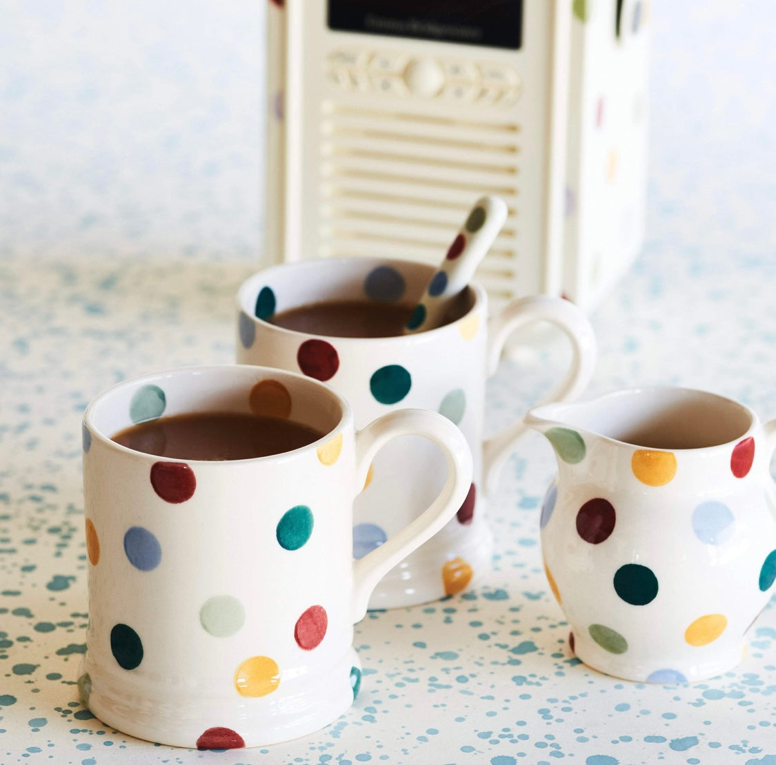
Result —
<instances>
[{"instance_id":1,"label":"flared base of the rear mug that holds the spoon","mask_svg":"<svg viewBox=\"0 0 776 765\"><path fill-rule=\"evenodd\" d=\"M449 529L450 524L379 581L369 598L370 611L441 600L466 591L490 570L493 535L487 523Z\"/></svg>"}]
</instances>

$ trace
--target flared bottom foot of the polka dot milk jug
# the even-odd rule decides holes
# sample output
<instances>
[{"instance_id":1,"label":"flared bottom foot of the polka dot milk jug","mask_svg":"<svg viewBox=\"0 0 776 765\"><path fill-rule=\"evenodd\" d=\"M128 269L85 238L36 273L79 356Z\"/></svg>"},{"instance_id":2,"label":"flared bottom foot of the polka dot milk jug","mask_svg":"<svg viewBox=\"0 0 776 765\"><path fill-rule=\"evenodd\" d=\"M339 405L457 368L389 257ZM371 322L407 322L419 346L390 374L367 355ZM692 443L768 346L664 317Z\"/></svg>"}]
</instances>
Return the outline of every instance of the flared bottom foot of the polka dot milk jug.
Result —
<instances>
[{"instance_id":1,"label":"flared bottom foot of the polka dot milk jug","mask_svg":"<svg viewBox=\"0 0 776 765\"><path fill-rule=\"evenodd\" d=\"M587 643L588 641L580 641L578 638L575 641L574 634L570 636L572 653L586 667L611 677L618 677L620 680L662 685L695 683L718 677L733 670L747 650L747 643L742 641L717 651L702 661L694 660L690 656L672 656L670 659L658 657L649 663L639 663L625 660L624 656L606 653L592 641L589 641L589 645Z\"/></svg>"}]
</instances>

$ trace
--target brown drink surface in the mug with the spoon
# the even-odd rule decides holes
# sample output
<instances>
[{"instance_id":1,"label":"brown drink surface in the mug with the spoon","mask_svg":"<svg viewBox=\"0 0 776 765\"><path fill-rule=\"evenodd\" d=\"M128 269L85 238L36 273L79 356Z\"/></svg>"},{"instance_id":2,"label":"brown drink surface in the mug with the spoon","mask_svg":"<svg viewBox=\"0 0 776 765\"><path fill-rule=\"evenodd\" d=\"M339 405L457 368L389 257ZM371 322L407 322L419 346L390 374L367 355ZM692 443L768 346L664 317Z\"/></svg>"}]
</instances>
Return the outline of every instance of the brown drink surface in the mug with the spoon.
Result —
<instances>
[{"instance_id":1,"label":"brown drink surface in the mug with the spoon","mask_svg":"<svg viewBox=\"0 0 776 765\"><path fill-rule=\"evenodd\" d=\"M289 308L269 322L330 337L395 337L404 333L414 306L366 300L330 300Z\"/></svg>"}]
</instances>

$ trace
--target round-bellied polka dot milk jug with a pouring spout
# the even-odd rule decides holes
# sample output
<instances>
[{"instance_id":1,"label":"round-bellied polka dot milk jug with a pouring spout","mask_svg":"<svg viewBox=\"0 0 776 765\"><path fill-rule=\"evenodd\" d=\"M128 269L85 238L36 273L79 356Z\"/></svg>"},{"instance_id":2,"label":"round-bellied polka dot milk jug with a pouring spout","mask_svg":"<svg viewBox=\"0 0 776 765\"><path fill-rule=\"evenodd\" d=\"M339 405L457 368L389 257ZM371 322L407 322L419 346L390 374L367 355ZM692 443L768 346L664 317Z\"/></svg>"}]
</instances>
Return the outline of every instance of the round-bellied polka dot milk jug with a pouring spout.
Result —
<instances>
[{"instance_id":1,"label":"round-bellied polka dot milk jug with a pouring spout","mask_svg":"<svg viewBox=\"0 0 776 765\"><path fill-rule=\"evenodd\" d=\"M638 388L526 421L558 460L542 553L574 653L641 682L736 666L776 580L776 420L703 391Z\"/></svg>"}]
</instances>

